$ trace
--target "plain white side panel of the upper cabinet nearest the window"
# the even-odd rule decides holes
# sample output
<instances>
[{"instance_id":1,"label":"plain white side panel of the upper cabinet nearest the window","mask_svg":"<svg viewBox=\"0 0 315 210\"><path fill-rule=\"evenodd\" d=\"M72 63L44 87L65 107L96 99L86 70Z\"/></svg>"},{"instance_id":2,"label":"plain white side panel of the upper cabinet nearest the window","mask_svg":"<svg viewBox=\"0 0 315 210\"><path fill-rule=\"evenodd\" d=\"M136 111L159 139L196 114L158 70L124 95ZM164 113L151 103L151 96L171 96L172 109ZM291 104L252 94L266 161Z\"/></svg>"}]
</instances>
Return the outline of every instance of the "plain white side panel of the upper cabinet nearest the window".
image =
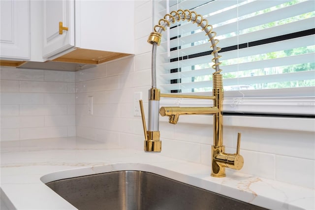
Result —
<instances>
[{"instance_id":1,"label":"plain white side panel of the upper cabinet nearest the window","mask_svg":"<svg viewBox=\"0 0 315 210\"><path fill-rule=\"evenodd\" d=\"M78 0L75 11L78 47L134 53L133 0Z\"/></svg>"}]
</instances>

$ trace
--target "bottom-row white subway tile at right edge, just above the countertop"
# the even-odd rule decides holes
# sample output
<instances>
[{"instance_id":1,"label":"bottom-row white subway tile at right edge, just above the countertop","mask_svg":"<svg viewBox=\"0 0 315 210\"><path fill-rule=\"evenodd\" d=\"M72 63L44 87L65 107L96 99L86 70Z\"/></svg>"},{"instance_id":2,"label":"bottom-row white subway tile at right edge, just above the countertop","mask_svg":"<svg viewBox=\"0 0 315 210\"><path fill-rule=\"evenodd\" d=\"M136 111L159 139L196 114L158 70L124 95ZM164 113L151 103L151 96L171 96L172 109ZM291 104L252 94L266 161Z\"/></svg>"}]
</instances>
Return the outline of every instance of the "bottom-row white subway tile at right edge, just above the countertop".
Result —
<instances>
[{"instance_id":1,"label":"bottom-row white subway tile at right edge, just above the countertop","mask_svg":"<svg viewBox=\"0 0 315 210\"><path fill-rule=\"evenodd\" d=\"M276 180L315 188L314 160L276 155L275 170Z\"/></svg>"}]
</instances>

